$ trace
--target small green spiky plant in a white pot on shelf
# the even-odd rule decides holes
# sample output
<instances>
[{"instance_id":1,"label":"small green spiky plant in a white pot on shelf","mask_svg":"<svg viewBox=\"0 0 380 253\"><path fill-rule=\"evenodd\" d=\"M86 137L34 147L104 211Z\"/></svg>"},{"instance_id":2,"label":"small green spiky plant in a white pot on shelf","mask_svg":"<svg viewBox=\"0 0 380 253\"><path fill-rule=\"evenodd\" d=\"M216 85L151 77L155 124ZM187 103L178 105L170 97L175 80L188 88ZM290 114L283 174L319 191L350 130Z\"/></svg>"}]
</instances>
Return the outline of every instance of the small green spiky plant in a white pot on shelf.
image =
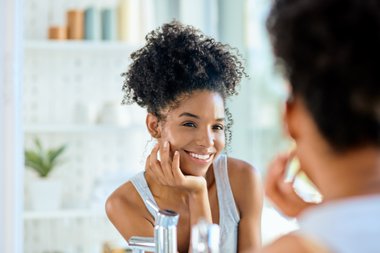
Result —
<instances>
[{"instance_id":1,"label":"small green spiky plant in a white pot on shelf","mask_svg":"<svg viewBox=\"0 0 380 253\"><path fill-rule=\"evenodd\" d=\"M33 210L56 210L61 206L62 184L49 178L50 173L60 165L66 145L44 148L38 138L34 147L25 149L25 166L31 168L38 178L29 183L31 207Z\"/></svg>"}]
</instances>

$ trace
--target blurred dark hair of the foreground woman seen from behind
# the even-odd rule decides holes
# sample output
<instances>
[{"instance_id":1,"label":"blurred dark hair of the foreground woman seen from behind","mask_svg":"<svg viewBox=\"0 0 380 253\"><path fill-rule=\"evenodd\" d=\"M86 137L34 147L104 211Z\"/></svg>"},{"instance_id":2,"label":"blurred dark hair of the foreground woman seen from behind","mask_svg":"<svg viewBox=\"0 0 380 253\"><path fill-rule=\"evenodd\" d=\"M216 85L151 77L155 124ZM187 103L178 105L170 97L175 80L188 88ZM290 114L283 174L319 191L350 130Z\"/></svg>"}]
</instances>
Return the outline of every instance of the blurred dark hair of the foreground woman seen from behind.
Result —
<instances>
[{"instance_id":1,"label":"blurred dark hair of the foreground woman seen from behind","mask_svg":"<svg viewBox=\"0 0 380 253\"><path fill-rule=\"evenodd\" d=\"M380 146L380 1L275 0L274 54L336 151Z\"/></svg>"}]
</instances>

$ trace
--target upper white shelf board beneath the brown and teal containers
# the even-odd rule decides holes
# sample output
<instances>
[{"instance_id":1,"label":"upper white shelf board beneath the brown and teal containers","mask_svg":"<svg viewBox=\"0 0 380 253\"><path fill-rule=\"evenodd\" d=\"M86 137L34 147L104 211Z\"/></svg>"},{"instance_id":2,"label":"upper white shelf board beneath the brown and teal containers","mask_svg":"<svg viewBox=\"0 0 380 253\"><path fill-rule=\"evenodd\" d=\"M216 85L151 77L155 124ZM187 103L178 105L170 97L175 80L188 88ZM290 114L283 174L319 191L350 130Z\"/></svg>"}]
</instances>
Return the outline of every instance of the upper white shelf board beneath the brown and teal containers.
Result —
<instances>
[{"instance_id":1,"label":"upper white shelf board beneath the brown and teal containers","mask_svg":"<svg viewBox=\"0 0 380 253\"><path fill-rule=\"evenodd\" d=\"M97 50L114 50L114 51L134 51L139 45L122 41L88 41L88 40L36 40L26 41L24 48L26 50L80 50L80 51L97 51Z\"/></svg>"}]
</instances>

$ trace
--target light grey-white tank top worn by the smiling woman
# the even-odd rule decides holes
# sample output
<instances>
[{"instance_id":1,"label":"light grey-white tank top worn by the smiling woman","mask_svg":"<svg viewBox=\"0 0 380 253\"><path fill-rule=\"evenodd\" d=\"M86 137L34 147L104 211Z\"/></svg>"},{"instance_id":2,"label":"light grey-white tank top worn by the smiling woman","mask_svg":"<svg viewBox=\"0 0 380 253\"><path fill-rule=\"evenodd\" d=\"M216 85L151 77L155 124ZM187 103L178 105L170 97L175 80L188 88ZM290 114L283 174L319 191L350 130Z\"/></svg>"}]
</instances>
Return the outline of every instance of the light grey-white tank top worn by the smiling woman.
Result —
<instances>
[{"instance_id":1,"label":"light grey-white tank top worn by the smiling woman","mask_svg":"<svg viewBox=\"0 0 380 253\"><path fill-rule=\"evenodd\" d=\"M238 225L240 216L232 194L227 171L227 156L220 155L213 163L216 181L216 191L219 204L219 226L220 226L220 252L235 253L237 251ZM144 172L140 172L131 179L137 192L142 199L150 199L156 205L148 184L144 177ZM146 205L151 215L156 218L155 211Z\"/></svg>"}]
</instances>

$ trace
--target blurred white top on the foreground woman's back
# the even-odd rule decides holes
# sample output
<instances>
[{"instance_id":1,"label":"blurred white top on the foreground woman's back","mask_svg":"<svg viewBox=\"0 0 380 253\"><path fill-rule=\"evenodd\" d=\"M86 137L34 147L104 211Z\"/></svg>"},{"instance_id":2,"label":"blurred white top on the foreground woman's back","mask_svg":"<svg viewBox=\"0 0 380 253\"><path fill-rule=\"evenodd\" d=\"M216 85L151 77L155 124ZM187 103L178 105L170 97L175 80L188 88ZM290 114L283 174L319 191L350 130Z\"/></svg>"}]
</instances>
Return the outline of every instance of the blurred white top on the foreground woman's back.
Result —
<instances>
[{"instance_id":1,"label":"blurred white top on the foreground woman's back","mask_svg":"<svg viewBox=\"0 0 380 253\"><path fill-rule=\"evenodd\" d=\"M331 201L305 211L295 232L334 253L380 252L380 195Z\"/></svg>"}]
</instances>

